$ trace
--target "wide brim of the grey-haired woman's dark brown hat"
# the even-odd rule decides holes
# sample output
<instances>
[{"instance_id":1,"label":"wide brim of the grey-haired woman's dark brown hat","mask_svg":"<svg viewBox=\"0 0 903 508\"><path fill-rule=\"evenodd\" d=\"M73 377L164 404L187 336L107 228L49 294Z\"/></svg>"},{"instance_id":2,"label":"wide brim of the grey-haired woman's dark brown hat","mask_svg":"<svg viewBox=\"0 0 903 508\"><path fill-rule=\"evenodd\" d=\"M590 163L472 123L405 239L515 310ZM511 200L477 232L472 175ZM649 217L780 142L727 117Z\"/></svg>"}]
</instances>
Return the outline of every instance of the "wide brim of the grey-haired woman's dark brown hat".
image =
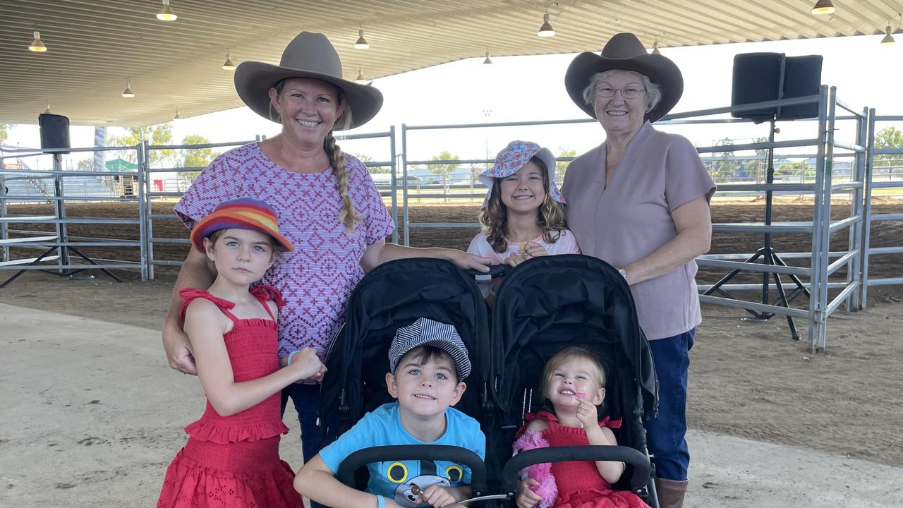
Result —
<instances>
[{"instance_id":1,"label":"wide brim of the grey-haired woman's dark brown hat","mask_svg":"<svg viewBox=\"0 0 903 508\"><path fill-rule=\"evenodd\" d=\"M590 84L593 74L616 69L644 74L661 87L662 99L646 114L651 122L664 117L684 94L684 76L675 62L666 56L652 53L632 58L607 58L592 52L582 52L571 61L564 73L564 88L578 108L591 118L596 118L592 105L583 101L583 89Z\"/></svg>"}]
</instances>

